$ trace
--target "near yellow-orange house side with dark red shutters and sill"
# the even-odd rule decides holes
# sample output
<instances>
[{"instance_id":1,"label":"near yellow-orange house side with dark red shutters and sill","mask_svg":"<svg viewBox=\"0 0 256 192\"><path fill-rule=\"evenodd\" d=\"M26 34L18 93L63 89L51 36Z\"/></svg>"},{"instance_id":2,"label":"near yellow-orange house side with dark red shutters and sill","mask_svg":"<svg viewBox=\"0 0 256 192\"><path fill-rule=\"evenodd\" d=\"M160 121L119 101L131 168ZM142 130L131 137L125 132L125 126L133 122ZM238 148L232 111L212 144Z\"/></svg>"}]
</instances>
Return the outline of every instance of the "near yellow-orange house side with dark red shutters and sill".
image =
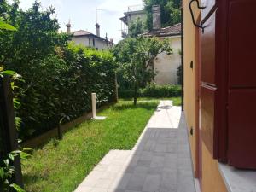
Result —
<instances>
[{"instance_id":1,"label":"near yellow-orange house side with dark red shutters and sill","mask_svg":"<svg viewBox=\"0 0 256 192\"><path fill-rule=\"evenodd\" d=\"M201 192L256 191L255 8L183 0L183 108Z\"/></svg>"}]
</instances>

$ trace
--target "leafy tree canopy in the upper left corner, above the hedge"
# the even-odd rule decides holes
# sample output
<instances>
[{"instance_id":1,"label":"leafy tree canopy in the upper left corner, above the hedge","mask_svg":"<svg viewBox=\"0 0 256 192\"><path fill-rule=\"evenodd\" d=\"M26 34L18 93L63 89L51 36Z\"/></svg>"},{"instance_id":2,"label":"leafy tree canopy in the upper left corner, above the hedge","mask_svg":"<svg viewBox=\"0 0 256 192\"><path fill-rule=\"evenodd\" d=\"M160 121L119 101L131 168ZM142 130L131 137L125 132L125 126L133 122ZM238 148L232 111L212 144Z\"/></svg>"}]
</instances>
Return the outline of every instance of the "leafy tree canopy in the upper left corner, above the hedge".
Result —
<instances>
[{"instance_id":1,"label":"leafy tree canopy in the upper left corner, above the hedge","mask_svg":"<svg viewBox=\"0 0 256 192\"><path fill-rule=\"evenodd\" d=\"M0 36L0 63L5 68L24 75L26 67L43 60L56 46L67 44L67 35L58 32L58 20L51 18L55 13L53 8L41 10L36 1L31 9L23 11L19 9L19 1L9 4L2 0L0 11L0 26L14 31Z\"/></svg>"}]
</instances>

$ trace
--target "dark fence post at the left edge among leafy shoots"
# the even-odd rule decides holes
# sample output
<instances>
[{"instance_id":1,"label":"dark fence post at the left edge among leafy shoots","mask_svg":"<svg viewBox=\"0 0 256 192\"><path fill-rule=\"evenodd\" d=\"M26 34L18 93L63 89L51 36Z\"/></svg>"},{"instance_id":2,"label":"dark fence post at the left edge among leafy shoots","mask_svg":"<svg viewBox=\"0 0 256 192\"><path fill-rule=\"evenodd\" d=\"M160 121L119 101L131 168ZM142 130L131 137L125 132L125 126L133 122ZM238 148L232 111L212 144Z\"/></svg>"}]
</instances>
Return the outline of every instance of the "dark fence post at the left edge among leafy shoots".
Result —
<instances>
[{"instance_id":1,"label":"dark fence post at the left edge among leafy shoots","mask_svg":"<svg viewBox=\"0 0 256 192\"><path fill-rule=\"evenodd\" d=\"M0 131L0 160L2 164L3 159L8 156L11 151L18 149L18 137L15 128L15 109L10 78L8 76L0 77ZM22 187L19 156L15 157L13 166L15 166L14 182Z\"/></svg>"}]
</instances>

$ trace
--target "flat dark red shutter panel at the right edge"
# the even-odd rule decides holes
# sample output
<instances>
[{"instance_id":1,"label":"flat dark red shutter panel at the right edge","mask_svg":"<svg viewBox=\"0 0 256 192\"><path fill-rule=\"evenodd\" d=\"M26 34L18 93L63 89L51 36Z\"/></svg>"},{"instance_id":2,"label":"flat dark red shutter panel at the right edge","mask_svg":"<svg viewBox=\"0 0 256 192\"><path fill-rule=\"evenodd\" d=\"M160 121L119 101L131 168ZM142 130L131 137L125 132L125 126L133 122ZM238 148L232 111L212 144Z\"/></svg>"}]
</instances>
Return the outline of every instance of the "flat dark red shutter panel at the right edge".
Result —
<instances>
[{"instance_id":1,"label":"flat dark red shutter panel at the right edge","mask_svg":"<svg viewBox=\"0 0 256 192\"><path fill-rule=\"evenodd\" d=\"M231 166L256 168L256 1L230 1L229 148Z\"/></svg>"}]
</instances>

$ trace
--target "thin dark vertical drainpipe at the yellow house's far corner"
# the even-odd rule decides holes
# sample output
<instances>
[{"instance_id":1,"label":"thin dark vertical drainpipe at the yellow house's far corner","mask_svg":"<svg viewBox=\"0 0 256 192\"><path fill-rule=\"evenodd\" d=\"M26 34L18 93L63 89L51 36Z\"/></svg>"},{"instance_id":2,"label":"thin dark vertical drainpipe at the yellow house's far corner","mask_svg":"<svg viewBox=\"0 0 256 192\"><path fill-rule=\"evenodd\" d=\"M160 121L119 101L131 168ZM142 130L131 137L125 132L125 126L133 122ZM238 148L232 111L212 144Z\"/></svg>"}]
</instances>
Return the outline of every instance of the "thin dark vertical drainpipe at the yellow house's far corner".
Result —
<instances>
[{"instance_id":1,"label":"thin dark vertical drainpipe at the yellow house's far corner","mask_svg":"<svg viewBox=\"0 0 256 192\"><path fill-rule=\"evenodd\" d=\"M184 111L184 32L183 32L183 1L181 1L181 47L182 47L182 111Z\"/></svg>"}]
</instances>

